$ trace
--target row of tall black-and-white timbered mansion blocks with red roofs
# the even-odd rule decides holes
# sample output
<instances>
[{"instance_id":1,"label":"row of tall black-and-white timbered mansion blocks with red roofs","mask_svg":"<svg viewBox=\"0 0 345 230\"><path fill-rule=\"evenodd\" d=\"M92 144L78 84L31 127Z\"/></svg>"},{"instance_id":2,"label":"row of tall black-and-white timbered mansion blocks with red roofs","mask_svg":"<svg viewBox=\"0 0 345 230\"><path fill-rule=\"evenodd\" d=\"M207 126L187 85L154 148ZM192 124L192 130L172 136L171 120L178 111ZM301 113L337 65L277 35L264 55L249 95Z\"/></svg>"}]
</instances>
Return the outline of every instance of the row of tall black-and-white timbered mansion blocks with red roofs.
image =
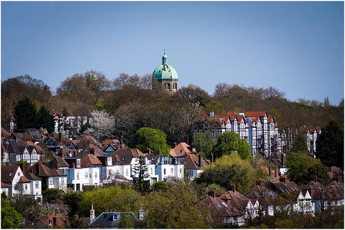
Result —
<instances>
[{"instance_id":1,"label":"row of tall black-and-white timbered mansion blocks with red roofs","mask_svg":"<svg viewBox=\"0 0 345 230\"><path fill-rule=\"evenodd\" d=\"M289 138L286 130L280 130L277 119L268 115L266 111L247 111L246 113L236 113L229 111L225 114L215 114L210 112L209 115L203 115L199 119L196 128L194 128L194 138L198 133L210 131L212 137L217 140L218 135L228 132L235 132L240 135L242 140L250 144L252 156L257 153L270 157L275 153L283 152ZM296 130L288 132L295 133ZM317 135L321 134L321 128L310 127L303 128L306 145L310 155L315 157Z\"/></svg>"}]
</instances>

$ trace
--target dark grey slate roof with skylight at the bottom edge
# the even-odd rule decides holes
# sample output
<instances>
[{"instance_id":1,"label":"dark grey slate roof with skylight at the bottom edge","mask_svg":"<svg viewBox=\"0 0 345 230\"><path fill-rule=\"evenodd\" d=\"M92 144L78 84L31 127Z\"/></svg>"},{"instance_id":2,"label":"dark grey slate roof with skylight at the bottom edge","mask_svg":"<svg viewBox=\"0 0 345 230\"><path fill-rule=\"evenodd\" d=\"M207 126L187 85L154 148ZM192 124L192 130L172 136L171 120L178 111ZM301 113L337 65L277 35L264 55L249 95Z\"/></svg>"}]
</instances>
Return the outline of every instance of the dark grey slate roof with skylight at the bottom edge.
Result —
<instances>
[{"instance_id":1,"label":"dark grey slate roof with skylight at the bottom edge","mask_svg":"<svg viewBox=\"0 0 345 230\"><path fill-rule=\"evenodd\" d=\"M117 215L117 218L113 218L113 215ZM138 218L133 212L103 212L100 216L88 225L88 228L119 228L122 218L129 216L131 222L138 222Z\"/></svg>"}]
</instances>

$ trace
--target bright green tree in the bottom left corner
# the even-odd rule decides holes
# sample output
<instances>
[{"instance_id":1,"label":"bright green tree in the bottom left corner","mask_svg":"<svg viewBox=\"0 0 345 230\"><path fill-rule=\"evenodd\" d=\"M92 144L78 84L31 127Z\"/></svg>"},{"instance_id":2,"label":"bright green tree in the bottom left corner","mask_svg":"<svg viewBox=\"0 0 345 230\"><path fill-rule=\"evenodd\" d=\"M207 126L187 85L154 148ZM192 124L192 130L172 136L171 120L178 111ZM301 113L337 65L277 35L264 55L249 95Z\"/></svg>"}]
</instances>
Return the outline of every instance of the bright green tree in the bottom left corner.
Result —
<instances>
[{"instance_id":1,"label":"bright green tree in the bottom left corner","mask_svg":"<svg viewBox=\"0 0 345 230\"><path fill-rule=\"evenodd\" d=\"M1 197L1 229L21 229L23 217Z\"/></svg>"}]
</instances>

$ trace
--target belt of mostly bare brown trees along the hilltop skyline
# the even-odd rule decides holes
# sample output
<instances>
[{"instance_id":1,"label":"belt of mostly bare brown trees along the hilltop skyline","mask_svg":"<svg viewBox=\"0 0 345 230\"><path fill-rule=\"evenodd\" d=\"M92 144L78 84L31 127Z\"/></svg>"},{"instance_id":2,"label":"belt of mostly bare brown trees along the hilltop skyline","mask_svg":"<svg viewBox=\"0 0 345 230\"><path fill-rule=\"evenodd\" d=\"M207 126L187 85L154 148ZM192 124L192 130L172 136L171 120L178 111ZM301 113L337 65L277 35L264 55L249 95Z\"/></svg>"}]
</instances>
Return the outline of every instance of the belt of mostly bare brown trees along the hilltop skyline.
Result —
<instances>
[{"instance_id":1,"label":"belt of mostly bare brown trees along the hilltop skyline","mask_svg":"<svg viewBox=\"0 0 345 230\"><path fill-rule=\"evenodd\" d=\"M29 75L1 82L1 126L10 121L20 100L28 97L39 111L64 115L91 115L102 111L114 117L113 137L130 144L138 128L149 126L167 134L175 142L192 144L192 130L198 117L210 111L268 111L283 130L286 127L322 126L330 120L344 125L344 99L338 105L299 99L290 102L277 88L244 87L219 83L213 95L189 84L175 95L152 90L151 75L121 73L109 80L97 71L75 74L65 79L52 95L49 86ZM87 128L87 127L85 127Z\"/></svg>"}]
</instances>

